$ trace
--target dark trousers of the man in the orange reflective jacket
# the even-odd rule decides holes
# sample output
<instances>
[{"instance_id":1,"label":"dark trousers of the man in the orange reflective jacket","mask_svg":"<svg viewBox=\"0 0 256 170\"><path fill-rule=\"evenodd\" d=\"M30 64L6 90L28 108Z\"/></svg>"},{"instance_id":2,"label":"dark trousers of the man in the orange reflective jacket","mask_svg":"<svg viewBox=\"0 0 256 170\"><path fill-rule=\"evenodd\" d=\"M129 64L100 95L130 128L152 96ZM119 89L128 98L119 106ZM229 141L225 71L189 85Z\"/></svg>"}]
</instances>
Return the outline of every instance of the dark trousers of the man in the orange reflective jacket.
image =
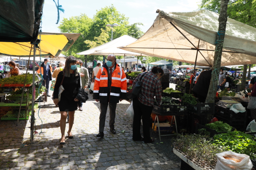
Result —
<instances>
[{"instance_id":1,"label":"dark trousers of the man in the orange reflective jacket","mask_svg":"<svg viewBox=\"0 0 256 170\"><path fill-rule=\"evenodd\" d=\"M100 113L99 132L103 132L104 131L108 105L110 107L110 122L109 122L109 126L110 126L110 129L114 129L114 123L115 123L114 119L116 117L116 105L117 105L117 103L107 103L107 104L100 103L101 113Z\"/></svg>"}]
</instances>

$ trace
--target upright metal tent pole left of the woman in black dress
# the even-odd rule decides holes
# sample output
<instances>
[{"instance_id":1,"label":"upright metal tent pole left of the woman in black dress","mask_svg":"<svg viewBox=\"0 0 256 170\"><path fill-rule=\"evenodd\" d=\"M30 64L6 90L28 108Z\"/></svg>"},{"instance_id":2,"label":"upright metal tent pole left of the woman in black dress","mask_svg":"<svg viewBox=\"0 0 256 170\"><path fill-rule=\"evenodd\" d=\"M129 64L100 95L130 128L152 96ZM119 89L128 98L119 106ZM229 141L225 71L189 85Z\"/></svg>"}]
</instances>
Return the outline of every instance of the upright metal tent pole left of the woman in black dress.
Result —
<instances>
[{"instance_id":1,"label":"upright metal tent pole left of the woman in black dress","mask_svg":"<svg viewBox=\"0 0 256 170\"><path fill-rule=\"evenodd\" d=\"M33 62L36 61L36 44L34 44L34 57ZM31 103L31 125L30 125L30 138L34 140L34 90L35 90L35 64L33 64L33 84L32 84L32 103Z\"/></svg>"}]
</instances>

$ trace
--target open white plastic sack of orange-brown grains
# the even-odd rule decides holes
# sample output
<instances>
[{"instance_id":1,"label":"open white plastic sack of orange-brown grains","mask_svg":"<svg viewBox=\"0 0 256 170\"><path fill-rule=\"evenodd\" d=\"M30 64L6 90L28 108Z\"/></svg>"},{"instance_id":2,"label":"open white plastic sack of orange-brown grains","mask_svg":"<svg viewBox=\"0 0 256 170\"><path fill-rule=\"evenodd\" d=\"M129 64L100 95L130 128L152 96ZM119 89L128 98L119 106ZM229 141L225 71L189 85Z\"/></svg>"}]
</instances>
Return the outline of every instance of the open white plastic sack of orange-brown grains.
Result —
<instances>
[{"instance_id":1,"label":"open white plastic sack of orange-brown grains","mask_svg":"<svg viewBox=\"0 0 256 170\"><path fill-rule=\"evenodd\" d=\"M250 157L246 154L239 154L232 151L226 151L217 153L217 164L215 170L251 170L252 163ZM225 159L224 157L230 157L235 159L241 159L241 162L236 163L234 160Z\"/></svg>"}]
</instances>

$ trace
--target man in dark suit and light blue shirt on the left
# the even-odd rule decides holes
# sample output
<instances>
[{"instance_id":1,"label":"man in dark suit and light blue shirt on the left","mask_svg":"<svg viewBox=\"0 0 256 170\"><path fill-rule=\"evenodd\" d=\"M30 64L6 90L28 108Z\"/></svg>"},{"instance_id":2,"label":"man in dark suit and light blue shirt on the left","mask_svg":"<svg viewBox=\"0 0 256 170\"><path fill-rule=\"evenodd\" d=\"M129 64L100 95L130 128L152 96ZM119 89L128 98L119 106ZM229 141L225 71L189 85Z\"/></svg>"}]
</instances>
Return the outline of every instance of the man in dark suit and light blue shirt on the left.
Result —
<instances>
[{"instance_id":1,"label":"man in dark suit and light blue shirt on the left","mask_svg":"<svg viewBox=\"0 0 256 170\"><path fill-rule=\"evenodd\" d=\"M47 96L49 95L49 83L52 81L52 66L48 63L49 59L45 58L44 62L41 64L41 73L43 75L42 85L47 89ZM37 70L37 73L40 74L40 68Z\"/></svg>"}]
</instances>

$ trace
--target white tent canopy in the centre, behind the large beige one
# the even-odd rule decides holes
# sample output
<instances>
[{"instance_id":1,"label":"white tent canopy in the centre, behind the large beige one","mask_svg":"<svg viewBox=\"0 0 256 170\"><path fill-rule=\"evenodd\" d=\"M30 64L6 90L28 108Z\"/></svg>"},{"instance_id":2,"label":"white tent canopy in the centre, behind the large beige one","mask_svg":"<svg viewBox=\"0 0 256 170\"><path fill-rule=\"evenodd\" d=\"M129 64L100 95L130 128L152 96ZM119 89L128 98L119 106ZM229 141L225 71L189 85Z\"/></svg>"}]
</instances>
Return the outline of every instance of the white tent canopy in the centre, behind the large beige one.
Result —
<instances>
[{"instance_id":1,"label":"white tent canopy in the centre, behind the large beige one","mask_svg":"<svg viewBox=\"0 0 256 170\"><path fill-rule=\"evenodd\" d=\"M119 46L126 46L128 44L131 44L132 42L136 41L136 38L133 38L129 35L123 35L117 39L114 39L112 41L109 41L105 44L102 44L100 46L94 47L90 50L82 51L79 53L76 53L78 55L102 55L102 56L108 56L108 55L116 55L116 56L147 56L143 55L141 53L136 52L129 52L126 50L118 49Z\"/></svg>"}]
</instances>

